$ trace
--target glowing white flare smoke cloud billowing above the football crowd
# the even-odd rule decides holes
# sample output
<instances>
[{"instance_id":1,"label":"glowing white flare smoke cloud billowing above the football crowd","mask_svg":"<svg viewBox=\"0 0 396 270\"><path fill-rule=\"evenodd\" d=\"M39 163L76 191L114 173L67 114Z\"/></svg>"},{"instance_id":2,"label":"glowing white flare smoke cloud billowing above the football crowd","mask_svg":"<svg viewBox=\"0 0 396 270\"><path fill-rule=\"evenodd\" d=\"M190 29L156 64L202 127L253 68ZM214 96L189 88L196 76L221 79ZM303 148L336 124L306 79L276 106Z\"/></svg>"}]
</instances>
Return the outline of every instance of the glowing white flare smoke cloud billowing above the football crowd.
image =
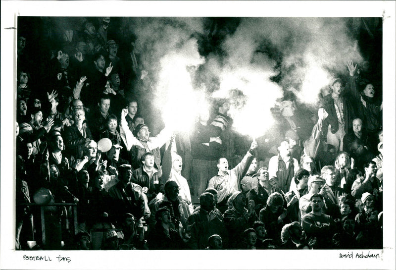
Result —
<instances>
[{"instance_id":1,"label":"glowing white flare smoke cloud billowing above the football crowd","mask_svg":"<svg viewBox=\"0 0 396 270\"><path fill-rule=\"evenodd\" d=\"M223 53L204 58L199 39L213 28L203 18L125 18L124 25L144 45L154 103L162 112L175 106L175 98L191 105L202 100L199 93L226 99L235 128L252 136L271 124L270 108L284 91L313 106L321 88L347 73L348 59L363 61L345 18L242 18L220 44ZM199 109L188 108L192 114ZM172 115L169 109L166 114ZM266 119L260 128L252 128L256 117Z\"/></svg>"}]
</instances>

